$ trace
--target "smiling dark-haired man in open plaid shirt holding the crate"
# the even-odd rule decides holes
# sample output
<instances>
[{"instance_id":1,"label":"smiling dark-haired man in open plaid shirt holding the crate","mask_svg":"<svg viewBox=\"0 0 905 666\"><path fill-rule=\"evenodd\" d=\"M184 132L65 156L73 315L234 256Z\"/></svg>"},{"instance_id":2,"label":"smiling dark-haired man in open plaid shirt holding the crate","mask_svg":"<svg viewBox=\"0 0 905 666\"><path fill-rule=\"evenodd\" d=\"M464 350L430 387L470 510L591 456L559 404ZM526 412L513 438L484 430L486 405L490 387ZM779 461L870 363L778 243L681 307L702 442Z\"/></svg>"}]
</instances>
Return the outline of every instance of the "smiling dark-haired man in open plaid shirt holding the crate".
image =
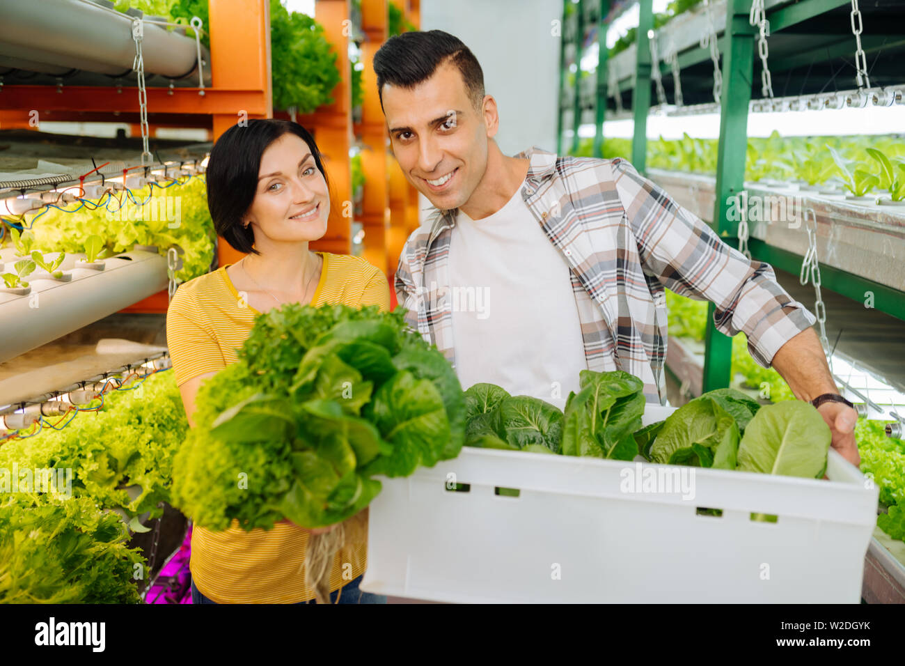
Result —
<instances>
[{"instance_id":1,"label":"smiling dark-haired man in open plaid shirt holding the crate","mask_svg":"<svg viewBox=\"0 0 905 666\"><path fill-rule=\"evenodd\" d=\"M395 159L436 211L395 275L413 328L462 386L565 397L581 370L622 370L666 401L664 287L716 305L720 332L814 401L833 446L859 463L857 413L841 402L814 315L624 159L507 157L481 65L443 31L404 33L374 70ZM526 105L527 106L527 105Z\"/></svg>"}]
</instances>

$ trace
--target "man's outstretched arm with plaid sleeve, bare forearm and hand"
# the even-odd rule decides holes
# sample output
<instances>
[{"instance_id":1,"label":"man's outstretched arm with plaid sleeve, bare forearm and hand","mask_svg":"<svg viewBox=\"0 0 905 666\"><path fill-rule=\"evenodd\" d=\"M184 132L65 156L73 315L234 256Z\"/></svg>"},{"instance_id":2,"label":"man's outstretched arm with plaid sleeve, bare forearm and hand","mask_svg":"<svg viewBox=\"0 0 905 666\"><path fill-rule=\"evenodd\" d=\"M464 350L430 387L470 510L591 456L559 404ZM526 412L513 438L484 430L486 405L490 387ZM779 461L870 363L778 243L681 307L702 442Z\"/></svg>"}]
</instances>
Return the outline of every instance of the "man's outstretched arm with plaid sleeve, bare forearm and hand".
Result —
<instances>
[{"instance_id":1,"label":"man's outstretched arm with plaid sleeve, bare forearm and hand","mask_svg":"<svg viewBox=\"0 0 905 666\"><path fill-rule=\"evenodd\" d=\"M724 243L628 162L614 160L613 169L645 272L676 294L712 302L717 330L744 332L752 358L774 367L797 398L839 392L811 328L816 317L776 282L772 266ZM818 411L833 432L834 448L857 465L857 413L841 402L824 403Z\"/></svg>"}]
</instances>

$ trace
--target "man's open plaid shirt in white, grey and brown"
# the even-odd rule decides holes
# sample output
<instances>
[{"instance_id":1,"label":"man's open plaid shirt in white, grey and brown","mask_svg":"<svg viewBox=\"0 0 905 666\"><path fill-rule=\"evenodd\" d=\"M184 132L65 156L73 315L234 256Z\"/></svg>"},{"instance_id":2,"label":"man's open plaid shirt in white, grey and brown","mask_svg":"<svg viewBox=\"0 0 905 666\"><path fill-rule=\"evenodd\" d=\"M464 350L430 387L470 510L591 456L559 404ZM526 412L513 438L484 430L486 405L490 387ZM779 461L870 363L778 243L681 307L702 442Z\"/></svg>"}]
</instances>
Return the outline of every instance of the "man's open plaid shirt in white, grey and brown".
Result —
<instances>
[{"instance_id":1,"label":"man's open plaid shirt in white, grey and brown","mask_svg":"<svg viewBox=\"0 0 905 666\"><path fill-rule=\"evenodd\" d=\"M530 159L521 196L571 269L590 370L631 372L644 382L647 401L666 403L664 287L715 304L716 328L746 333L748 351L764 367L816 321L770 265L723 243L624 159L557 157L538 148L517 157ZM453 366L449 255L457 210L434 209L409 236L395 274L409 324Z\"/></svg>"}]
</instances>

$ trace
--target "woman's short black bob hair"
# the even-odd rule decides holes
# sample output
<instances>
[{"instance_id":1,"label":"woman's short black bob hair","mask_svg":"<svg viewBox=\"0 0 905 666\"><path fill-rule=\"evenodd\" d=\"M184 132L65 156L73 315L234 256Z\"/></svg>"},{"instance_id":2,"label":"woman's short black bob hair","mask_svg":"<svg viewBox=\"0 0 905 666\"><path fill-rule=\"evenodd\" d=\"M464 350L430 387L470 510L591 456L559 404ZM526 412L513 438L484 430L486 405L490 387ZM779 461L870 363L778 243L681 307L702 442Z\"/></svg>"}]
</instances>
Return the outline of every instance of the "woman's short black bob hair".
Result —
<instances>
[{"instance_id":1,"label":"woman's short black bob hair","mask_svg":"<svg viewBox=\"0 0 905 666\"><path fill-rule=\"evenodd\" d=\"M311 133L298 122L273 118L252 119L247 125L233 125L214 143L207 160L207 209L211 211L218 236L245 254L254 249L254 232L242 226L242 217L258 189L258 172L264 150L283 134L295 134L308 144L311 156L329 188L327 171Z\"/></svg>"}]
</instances>

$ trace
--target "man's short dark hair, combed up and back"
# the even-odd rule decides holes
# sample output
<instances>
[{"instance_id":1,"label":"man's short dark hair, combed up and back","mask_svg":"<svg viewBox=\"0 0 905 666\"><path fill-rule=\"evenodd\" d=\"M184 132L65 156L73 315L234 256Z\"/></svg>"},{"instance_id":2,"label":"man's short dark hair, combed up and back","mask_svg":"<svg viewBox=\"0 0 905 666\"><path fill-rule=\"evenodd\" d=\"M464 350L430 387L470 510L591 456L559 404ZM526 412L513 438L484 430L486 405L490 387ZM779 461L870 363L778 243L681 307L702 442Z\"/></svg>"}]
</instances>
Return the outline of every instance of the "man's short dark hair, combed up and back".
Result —
<instances>
[{"instance_id":1,"label":"man's short dark hair, combed up and back","mask_svg":"<svg viewBox=\"0 0 905 666\"><path fill-rule=\"evenodd\" d=\"M437 67L451 61L462 74L462 82L475 109L484 99L484 72L478 59L458 37L443 30L397 34L374 54L377 94L384 106L384 84L414 88L433 76Z\"/></svg>"}]
</instances>

